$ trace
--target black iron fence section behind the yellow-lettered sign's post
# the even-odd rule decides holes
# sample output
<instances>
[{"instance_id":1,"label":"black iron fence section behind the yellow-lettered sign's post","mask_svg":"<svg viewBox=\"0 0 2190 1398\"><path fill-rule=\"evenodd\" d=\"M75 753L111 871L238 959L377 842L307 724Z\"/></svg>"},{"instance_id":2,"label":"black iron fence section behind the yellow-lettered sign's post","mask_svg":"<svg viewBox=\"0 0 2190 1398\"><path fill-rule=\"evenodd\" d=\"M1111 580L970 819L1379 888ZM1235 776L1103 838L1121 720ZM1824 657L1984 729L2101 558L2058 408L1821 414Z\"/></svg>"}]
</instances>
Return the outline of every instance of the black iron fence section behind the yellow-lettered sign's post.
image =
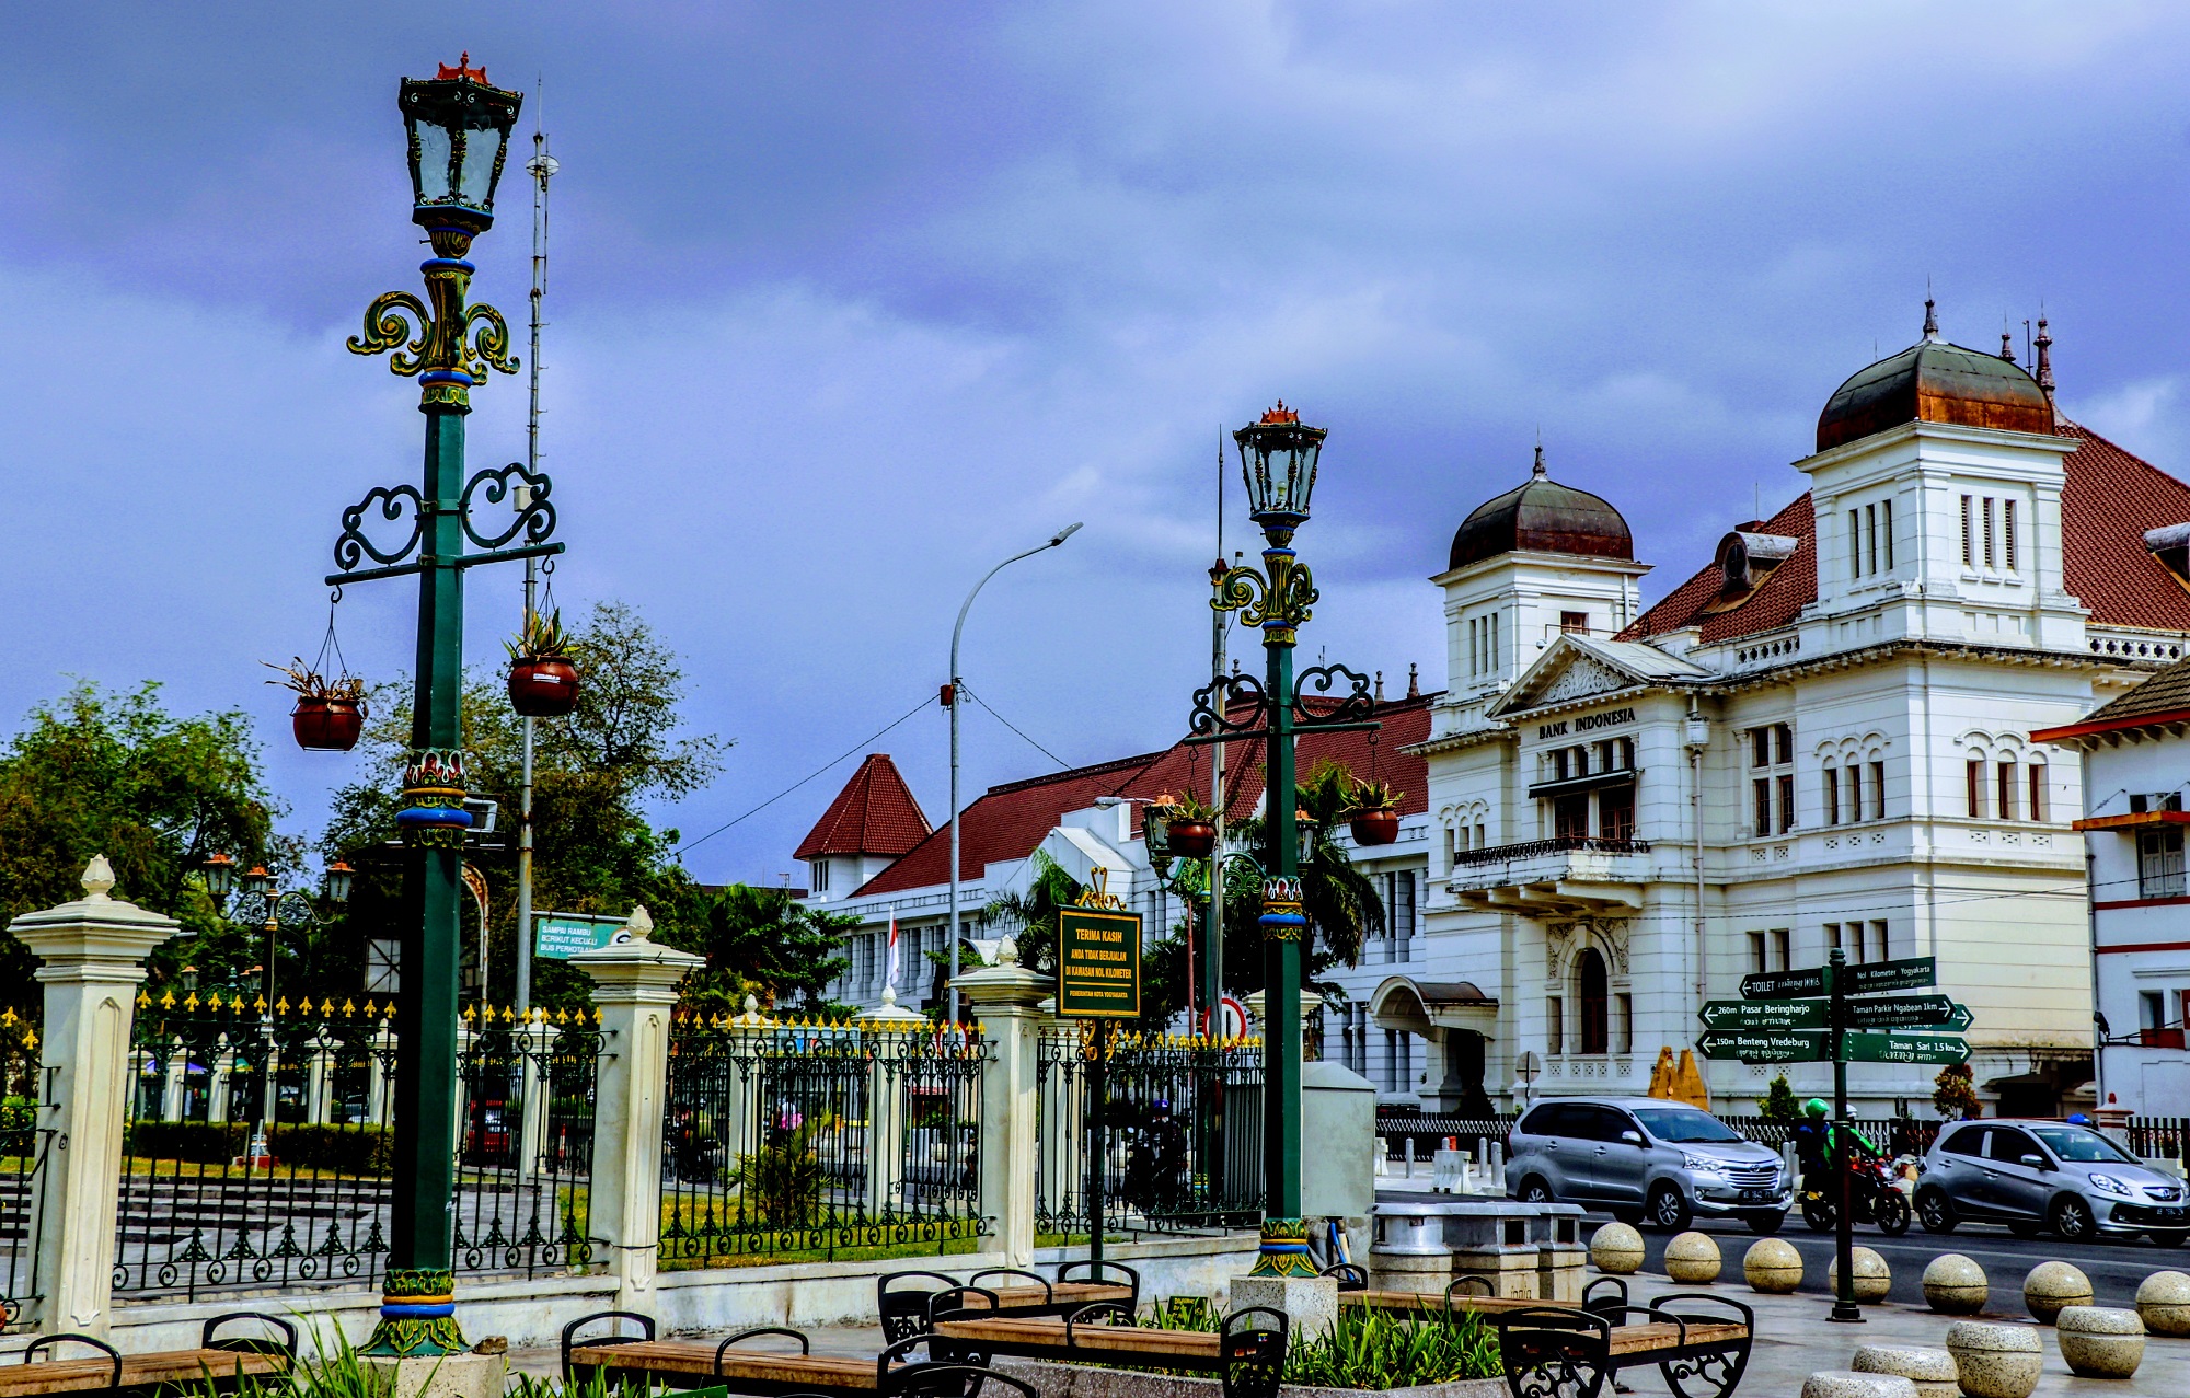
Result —
<instances>
[{"instance_id":1,"label":"black iron fence section behind the yellow-lettered sign's post","mask_svg":"<svg viewBox=\"0 0 2190 1398\"><path fill-rule=\"evenodd\" d=\"M1036 1227L1088 1231L1093 1028L1036 1045ZM1104 1063L1104 1227L1180 1231L1261 1221L1261 1041L1115 1034Z\"/></svg>"}]
</instances>

